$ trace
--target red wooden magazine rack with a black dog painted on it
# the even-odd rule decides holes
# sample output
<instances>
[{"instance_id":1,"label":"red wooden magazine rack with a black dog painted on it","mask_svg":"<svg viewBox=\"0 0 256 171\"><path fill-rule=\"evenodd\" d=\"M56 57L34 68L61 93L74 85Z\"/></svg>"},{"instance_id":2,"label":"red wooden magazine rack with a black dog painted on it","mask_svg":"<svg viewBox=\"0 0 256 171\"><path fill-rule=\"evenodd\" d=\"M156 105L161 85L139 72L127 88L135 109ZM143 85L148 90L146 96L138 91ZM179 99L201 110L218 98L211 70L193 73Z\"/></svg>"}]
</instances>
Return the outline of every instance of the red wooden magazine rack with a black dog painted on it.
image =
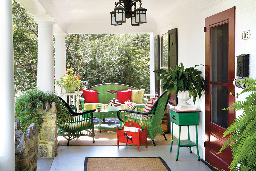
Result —
<instances>
[{"instance_id":1,"label":"red wooden magazine rack with a black dog painted on it","mask_svg":"<svg viewBox=\"0 0 256 171\"><path fill-rule=\"evenodd\" d=\"M138 128L138 132L124 131L125 126ZM141 129L141 127L136 122L132 121L125 123L122 129L119 129L117 127L117 147L119 148L120 142L138 145L139 152L141 144L146 143L147 148L147 127L145 127L145 129L141 129L141 132L139 131L139 129Z\"/></svg>"}]
</instances>

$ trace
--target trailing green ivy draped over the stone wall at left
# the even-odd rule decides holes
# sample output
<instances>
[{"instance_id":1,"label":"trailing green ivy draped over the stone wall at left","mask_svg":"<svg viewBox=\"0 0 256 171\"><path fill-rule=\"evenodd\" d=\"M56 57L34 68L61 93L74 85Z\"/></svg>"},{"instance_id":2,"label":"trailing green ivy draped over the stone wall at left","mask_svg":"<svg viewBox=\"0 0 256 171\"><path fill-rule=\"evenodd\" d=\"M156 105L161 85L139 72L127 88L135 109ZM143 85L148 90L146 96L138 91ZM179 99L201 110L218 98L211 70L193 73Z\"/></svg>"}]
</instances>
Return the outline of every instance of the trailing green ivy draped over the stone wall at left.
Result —
<instances>
[{"instance_id":1,"label":"trailing green ivy draped over the stone wall at left","mask_svg":"<svg viewBox=\"0 0 256 171\"><path fill-rule=\"evenodd\" d=\"M57 103L58 114L66 114L64 104L57 100L56 95L49 92L43 92L38 89L31 89L20 95L15 101L15 117L20 119L20 129L26 132L28 126L32 123L37 124L40 130L41 124L44 122L41 118L43 114L37 112L38 103L46 104L47 101ZM38 132L40 134L40 131Z\"/></svg>"}]
</instances>

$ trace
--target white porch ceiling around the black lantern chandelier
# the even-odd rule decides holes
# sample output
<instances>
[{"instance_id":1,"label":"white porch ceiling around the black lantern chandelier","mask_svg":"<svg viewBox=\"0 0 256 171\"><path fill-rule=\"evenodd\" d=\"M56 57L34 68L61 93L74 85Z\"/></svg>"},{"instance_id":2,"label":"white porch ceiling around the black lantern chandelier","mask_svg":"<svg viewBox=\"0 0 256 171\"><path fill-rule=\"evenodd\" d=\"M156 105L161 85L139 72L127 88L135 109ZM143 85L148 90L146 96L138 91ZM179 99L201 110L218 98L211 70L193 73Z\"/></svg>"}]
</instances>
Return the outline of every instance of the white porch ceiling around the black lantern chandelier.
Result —
<instances>
[{"instance_id":1,"label":"white porch ceiling around the black lantern chandelier","mask_svg":"<svg viewBox=\"0 0 256 171\"><path fill-rule=\"evenodd\" d=\"M54 32L66 33L150 33L160 15L184 0L142 0L147 9L147 23L131 26L130 19L122 26L112 26L110 12L118 0L17 0L35 17L54 17ZM137 8L139 4L137 3Z\"/></svg>"}]
</instances>

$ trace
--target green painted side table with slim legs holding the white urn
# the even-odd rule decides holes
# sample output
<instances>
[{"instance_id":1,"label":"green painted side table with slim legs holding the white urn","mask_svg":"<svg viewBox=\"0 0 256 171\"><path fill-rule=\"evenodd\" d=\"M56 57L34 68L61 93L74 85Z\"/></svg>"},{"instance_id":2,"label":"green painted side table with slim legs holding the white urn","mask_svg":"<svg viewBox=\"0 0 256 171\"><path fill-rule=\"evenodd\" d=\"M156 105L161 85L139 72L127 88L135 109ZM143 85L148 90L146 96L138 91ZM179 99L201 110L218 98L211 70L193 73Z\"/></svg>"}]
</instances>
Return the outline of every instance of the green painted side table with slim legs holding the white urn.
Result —
<instances>
[{"instance_id":1,"label":"green painted side table with slim legs holding the white urn","mask_svg":"<svg viewBox=\"0 0 256 171\"><path fill-rule=\"evenodd\" d=\"M172 122L172 142L171 142L170 153L172 152L173 142L175 142L178 145L176 161L178 161L180 147L189 147L190 153L192 153L191 147L196 146L198 161L200 161L200 156L198 151L197 126L198 126L198 112L201 112L201 111L179 111L179 110L176 110L175 108L169 108L169 109L170 109L170 116L171 116L171 122ZM179 138L177 140L173 139L173 123L175 123L176 125L179 125ZM196 126L196 144L190 140L189 125ZM187 126L188 139L186 140L180 139L181 126Z\"/></svg>"}]
</instances>

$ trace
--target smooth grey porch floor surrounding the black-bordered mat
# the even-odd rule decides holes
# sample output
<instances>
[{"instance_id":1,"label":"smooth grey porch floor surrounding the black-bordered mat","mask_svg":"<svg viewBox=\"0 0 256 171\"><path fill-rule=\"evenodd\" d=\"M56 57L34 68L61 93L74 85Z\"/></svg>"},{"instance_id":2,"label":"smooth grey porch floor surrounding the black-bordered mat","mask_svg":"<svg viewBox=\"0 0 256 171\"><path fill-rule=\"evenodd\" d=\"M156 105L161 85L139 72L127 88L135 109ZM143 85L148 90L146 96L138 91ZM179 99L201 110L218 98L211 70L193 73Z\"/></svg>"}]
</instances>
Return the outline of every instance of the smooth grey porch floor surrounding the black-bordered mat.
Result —
<instances>
[{"instance_id":1,"label":"smooth grey porch floor surrounding the black-bordered mat","mask_svg":"<svg viewBox=\"0 0 256 171\"><path fill-rule=\"evenodd\" d=\"M177 145L141 146L58 146L55 158L38 158L37 171L83 171L84 159L88 157L161 157L171 171L211 171L187 147L181 147L179 160L176 161Z\"/></svg>"}]
</instances>

